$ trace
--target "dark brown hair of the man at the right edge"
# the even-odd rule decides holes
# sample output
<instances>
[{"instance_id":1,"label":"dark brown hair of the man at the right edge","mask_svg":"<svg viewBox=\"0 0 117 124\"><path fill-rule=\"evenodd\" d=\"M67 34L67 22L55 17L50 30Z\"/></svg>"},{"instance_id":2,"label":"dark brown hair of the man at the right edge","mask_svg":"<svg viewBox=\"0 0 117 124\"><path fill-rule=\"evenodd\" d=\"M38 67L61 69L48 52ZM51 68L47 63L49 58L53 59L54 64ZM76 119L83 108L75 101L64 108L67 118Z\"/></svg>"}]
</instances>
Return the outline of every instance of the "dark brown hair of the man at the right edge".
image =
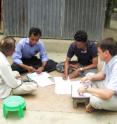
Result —
<instances>
[{"instance_id":1,"label":"dark brown hair of the man at the right edge","mask_svg":"<svg viewBox=\"0 0 117 124\"><path fill-rule=\"evenodd\" d=\"M103 52L108 50L112 56L117 55L117 41L115 41L112 37L105 38L100 41L97 46L101 48Z\"/></svg>"}]
</instances>

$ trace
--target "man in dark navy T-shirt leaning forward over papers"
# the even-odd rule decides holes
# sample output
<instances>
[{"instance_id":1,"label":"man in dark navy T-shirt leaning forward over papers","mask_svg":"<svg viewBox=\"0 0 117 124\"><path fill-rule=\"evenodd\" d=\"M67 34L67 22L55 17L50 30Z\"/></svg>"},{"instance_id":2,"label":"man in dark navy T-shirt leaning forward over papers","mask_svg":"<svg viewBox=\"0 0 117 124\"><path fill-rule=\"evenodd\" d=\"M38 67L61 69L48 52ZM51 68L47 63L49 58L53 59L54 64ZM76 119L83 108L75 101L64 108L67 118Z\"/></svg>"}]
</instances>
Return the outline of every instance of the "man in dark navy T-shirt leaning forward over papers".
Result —
<instances>
[{"instance_id":1,"label":"man in dark navy T-shirt leaning forward over papers","mask_svg":"<svg viewBox=\"0 0 117 124\"><path fill-rule=\"evenodd\" d=\"M97 68L97 47L94 42L88 40L85 31L77 31L74 35L74 42L70 45L64 65L64 78L70 79L84 76L87 72L96 72ZM71 61L73 56L77 57L77 61ZM69 74L69 69L74 71Z\"/></svg>"}]
</instances>

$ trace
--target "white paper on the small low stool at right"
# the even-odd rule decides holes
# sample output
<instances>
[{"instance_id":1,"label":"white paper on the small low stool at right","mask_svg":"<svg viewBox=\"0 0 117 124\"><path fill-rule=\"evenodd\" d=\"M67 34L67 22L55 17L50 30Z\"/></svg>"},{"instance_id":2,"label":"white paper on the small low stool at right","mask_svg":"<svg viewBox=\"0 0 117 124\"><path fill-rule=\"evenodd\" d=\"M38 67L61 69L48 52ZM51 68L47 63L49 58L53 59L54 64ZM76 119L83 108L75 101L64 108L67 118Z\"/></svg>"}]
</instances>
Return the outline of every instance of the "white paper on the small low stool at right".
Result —
<instances>
[{"instance_id":1,"label":"white paper on the small low stool at right","mask_svg":"<svg viewBox=\"0 0 117 124\"><path fill-rule=\"evenodd\" d=\"M72 92L71 95L73 98L89 98L91 94L89 93L78 93L78 89L80 87L91 87L91 83L80 83L80 81L77 81L76 83L72 83Z\"/></svg>"}]
</instances>

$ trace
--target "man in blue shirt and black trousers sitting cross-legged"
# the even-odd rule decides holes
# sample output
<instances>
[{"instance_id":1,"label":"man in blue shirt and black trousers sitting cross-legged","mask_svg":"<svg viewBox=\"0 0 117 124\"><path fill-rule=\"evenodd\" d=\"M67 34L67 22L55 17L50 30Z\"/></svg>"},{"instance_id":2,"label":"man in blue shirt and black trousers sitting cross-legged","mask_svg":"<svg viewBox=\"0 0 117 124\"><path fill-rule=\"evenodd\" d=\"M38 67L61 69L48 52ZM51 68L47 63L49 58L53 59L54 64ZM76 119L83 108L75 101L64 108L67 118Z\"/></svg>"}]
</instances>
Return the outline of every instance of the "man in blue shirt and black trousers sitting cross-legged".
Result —
<instances>
[{"instance_id":1,"label":"man in blue shirt and black trousers sitting cross-legged","mask_svg":"<svg viewBox=\"0 0 117 124\"><path fill-rule=\"evenodd\" d=\"M20 74L26 72L53 71L56 63L49 60L43 42L40 40L41 30L32 27L29 31L29 38L23 38L16 45L13 54L12 69ZM38 57L36 54L39 54Z\"/></svg>"}]
</instances>

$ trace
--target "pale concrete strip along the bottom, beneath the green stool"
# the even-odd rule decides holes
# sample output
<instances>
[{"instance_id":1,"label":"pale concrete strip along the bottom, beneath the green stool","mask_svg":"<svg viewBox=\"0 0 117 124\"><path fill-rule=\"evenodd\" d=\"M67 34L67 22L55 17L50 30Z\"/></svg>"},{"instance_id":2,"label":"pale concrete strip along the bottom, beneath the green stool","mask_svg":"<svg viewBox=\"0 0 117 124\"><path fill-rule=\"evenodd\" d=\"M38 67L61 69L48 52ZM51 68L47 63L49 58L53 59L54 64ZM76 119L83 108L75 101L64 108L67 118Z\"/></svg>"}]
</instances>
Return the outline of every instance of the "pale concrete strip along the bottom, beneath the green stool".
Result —
<instances>
[{"instance_id":1,"label":"pale concrete strip along the bottom, beneath the green stool","mask_svg":"<svg viewBox=\"0 0 117 124\"><path fill-rule=\"evenodd\" d=\"M74 114L64 112L26 111L19 119L10 116L5 119L0 110L0 124L116 124L117 114Z\"/></svg>"}]
</instances>

